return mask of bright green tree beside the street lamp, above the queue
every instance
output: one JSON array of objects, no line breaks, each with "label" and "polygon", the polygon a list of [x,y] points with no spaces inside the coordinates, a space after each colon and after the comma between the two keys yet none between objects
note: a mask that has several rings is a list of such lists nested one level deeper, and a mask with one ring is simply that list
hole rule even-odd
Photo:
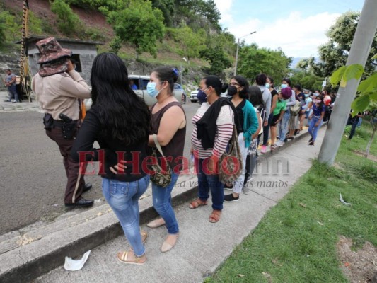
[{"label": "bright green tree beside the street lamp, above the queue", "polygon": [[279,81],[282,79],[291,63],[282,50],[258,48],[253,44],[240,47],[237,74],[253,81],[260,73],[268,74]]}]

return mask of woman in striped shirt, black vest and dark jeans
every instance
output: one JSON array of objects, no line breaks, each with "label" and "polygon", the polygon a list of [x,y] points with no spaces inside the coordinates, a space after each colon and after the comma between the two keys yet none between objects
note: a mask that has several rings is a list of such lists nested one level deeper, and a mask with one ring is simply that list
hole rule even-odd
[{"label": "woman in striped shirt, black vest and dark jeans", "polygon": [[[212,195],[211,223],[220,220],[224,203],[224,184],[219,178],[219,158],[226,151],[226,146],[233,134],[235,112],[233,104],[227,98],[221,98],[227,86],[217,76],[206,76],[199,84],[199,97],[203,94],[207,103],[203,103],[192,117],[194,126],[191,136],[192,154],[198,179],[198,198],[190,203],[190,209],[197,209],[208,204],[209,191]],[[236,120],[237,129],[240,128]]]}]

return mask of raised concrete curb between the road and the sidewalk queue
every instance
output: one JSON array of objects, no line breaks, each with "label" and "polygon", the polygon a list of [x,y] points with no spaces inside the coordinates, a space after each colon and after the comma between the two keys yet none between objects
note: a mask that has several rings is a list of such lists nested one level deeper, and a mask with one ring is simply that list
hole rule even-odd
[{"label": "raised concrete curb between the road and the sidewalk queue", "polygon": [[[308,132],[299,134],[292,141],[287,142],[284,148],[295,144],[296,141],[307,135]],[[263,155],[272,156],[281,151],[282,148],[273,152],[269,151]],[[176,207],[192,200],[196,194],[197,187],[189,187],[183,192],[179,192],[172,197],[173,206]],[[141,200],[139,205],[141,224],[158,216],[150,201]],[[40,275],[61,266],[66,256],[82,255],[86,251],[102,245],[105,241],[120,236],[123,233],[122,229],[116,216],[107,213],[110,212],[108,208],[108,204],[103,204],[100,207],[72,216],[59,224],[54,224],[54,227],[50,227],[51,233],[47,233],[41,238],[38,237],[38,233],[30,233],[30,243],[26,241],[18,248],[0,255],[0,282],[33,281]],[[75,223],[78,221],[79,224]],[[20,238],[20,235],[17,235],[17,237]]]}]

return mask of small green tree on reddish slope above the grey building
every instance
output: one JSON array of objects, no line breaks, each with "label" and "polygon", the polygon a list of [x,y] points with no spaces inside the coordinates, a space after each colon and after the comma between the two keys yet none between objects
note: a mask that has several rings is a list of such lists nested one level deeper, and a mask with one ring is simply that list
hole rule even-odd
[{"label": "small green tree on reddish slope above the grey building", "polygon": [[65,35],[72,35],[82,30],[83,24],[79,16],[64,0],[54,0],[51,11],[57,15],[57,28]]}]

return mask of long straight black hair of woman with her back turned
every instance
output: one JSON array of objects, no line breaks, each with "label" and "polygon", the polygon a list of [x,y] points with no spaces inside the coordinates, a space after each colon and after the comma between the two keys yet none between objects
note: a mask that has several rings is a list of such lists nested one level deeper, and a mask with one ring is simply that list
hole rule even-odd
[{"label": "long straight black hair of woman with her back turned", "polygon": [[98,108],[103,134],[125,145],[148,141],[151,112],[129,87],[126,65],[112,53],[95,57],[91,71],[91,97]]}]

